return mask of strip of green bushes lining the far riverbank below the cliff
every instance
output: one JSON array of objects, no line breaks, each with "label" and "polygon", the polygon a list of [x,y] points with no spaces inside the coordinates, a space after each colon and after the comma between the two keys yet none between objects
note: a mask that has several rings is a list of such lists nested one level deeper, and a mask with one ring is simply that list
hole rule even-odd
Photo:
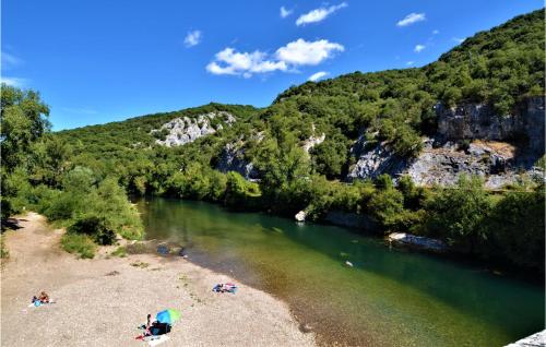
[{"label": "strip of green bushes lining the far riverbank below the cliff", "polygon": [[441,240],[454,255],[544,275],[542,182],[526,181],[490,191],[484,188],[483,179],[466,176],[443,188],[416,187],[408,177],[402,177],[395,186],[387,175],[352,184],[311,176],[264,186],[263,181],[246,181],[236,172],[226,175],[221,187],[203,184],[203,180],[206,177],[202,175],[179,179],[179,186],[168,190],[176,193],[167,195],[200,196],[235,211],[262,211],[288,218],[298,214],[308,222],[347,226],[377,236],[411,232]]}]

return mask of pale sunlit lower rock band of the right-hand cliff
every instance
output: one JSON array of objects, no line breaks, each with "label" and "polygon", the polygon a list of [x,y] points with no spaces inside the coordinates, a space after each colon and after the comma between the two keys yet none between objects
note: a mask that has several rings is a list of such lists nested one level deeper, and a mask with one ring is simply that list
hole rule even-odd
[{"label": "pale sunlit lower rock band of the right-hand cliff", "polygon": [[394,180],[408,175],[418,186],[453,186],[462,175],[479,176],[485,187],[499,189],[506,184],[518,182],[527,176],[544,179],[544,170],[534,167],[524,156],[517,157],[518,148],[500,141],[475,140],[467,148],[461,148],[455,142],[435,143],[432,139],[424,139],[424,148],[413,159],[404,159],[394,155],[387,144],[378,144],[369,149],[355,144],[352,152],[360,153],[356,164],[351,168],[346,180],[375,179],[379,175],[391,175]]}]

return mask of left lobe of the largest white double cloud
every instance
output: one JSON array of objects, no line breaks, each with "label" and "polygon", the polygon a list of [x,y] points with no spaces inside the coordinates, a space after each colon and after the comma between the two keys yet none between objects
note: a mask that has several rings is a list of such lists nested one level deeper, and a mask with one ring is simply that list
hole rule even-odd
[{"label": "left lobe of the largest white double cloud", "polygon": [[266,59],[266,55],[259,50],[251,53],[237,52],[227,47],[215,56],[215,60],[206,65],[206,71],[212,74],[242,75],[248,79],[252,73],[265,73],[275,70],[286,71],[284,61],[272,61]]}]

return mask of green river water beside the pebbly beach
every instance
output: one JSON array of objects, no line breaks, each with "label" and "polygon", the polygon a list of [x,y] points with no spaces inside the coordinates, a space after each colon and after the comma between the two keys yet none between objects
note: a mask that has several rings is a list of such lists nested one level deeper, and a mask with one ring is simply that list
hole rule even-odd
[{"label": "green river water beside the pebbly beach", "polygon": [[334,226],[181,200],[138,206],[147,238],[281,298],[323,345],[503,346],[544,328],[542,286]]}]

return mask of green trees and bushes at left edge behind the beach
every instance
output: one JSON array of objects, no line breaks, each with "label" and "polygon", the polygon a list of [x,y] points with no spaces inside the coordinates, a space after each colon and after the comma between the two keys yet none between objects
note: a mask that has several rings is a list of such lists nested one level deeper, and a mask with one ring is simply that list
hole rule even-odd
[{"label": "green trees and bushes at left edge behind the beach", "polygon": [[1,85],[2,226],[14,213],[39,211],[68,227],[62,244],[82,256],[92,256],[90,240],[141,238],[124,190],[116,179],[71,163],[71,146],[49,133],[48,112],[37,93]]}]

